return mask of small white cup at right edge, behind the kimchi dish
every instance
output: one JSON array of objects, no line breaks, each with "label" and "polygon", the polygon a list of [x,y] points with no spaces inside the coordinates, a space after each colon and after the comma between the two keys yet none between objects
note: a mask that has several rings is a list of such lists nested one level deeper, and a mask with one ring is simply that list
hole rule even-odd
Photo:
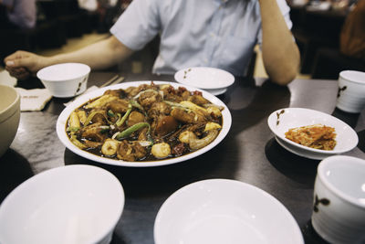
[{"label": "small white cup at right edge, behind the kimchi dish", "polygon": [[339,73],[336,107],[354,113],[362,111],[365,107],[365,72],[344,70]]}]

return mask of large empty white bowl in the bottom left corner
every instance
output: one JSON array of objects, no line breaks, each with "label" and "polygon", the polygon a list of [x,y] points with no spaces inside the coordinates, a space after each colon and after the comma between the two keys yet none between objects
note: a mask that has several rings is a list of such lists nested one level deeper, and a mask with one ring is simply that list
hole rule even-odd
[{"label": "large empty white bowl in the bottom left corner", "polygon": [[0,243],[110,243],[124,207],[120,181],[74,164],[35,175],[0,207]]}]

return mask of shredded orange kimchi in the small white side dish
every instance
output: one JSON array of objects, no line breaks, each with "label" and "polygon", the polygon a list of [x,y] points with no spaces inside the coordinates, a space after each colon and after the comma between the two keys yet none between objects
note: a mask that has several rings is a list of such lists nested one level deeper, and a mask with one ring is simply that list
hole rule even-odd
[{"label": "shredded orange kimchi in the small white side dish", "polygon": [[321,150],[333,150],[336,146],[335,128],[314,124],[289,129],[286,138],[301,145]]}]

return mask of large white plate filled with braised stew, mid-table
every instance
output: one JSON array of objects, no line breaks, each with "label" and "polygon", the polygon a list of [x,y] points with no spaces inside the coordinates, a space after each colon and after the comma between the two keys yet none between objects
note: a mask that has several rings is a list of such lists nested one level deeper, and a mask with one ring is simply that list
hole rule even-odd
[{"label": "large white plate filled with braised stew, mid-table", "polygon": [[80,96],[59,115],[57,136],[89,160],[148,167],[208,152],[224,139],[231,123],[224,102],[207,91],[144,80]]}]

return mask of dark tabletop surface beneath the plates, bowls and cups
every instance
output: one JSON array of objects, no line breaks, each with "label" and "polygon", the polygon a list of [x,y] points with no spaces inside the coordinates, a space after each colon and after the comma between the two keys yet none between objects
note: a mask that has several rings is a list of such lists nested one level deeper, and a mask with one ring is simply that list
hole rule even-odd
[{"label": "dark tabletop surface beneath the plates, bowls and cups", "polygon": [[[114,75],[91,73],[89,86]],[[125,81],[131,80],[173,78],[141,75],[128,76]],[[112,243],[153,243],[154,219],[173,192],[203,179],[235,179],[275,196],[297,220],[306,243],[324,243],[310,226],[319,160],[287,152],[276,143],[266,120],[272,111],[287,107],[327,112],[347,122],[359,135],[358,147],[346,154],[365,159],[365,111],[350,114],[335,109],[337,91],[336,80],[294,80],[287,87],[280,87],[264,79],[237,78],[218,96],[233,119],[224,141],[192,160],[148,168],[99,164],[69,151],[56,133],[58,114],[69,100],[53,98],[43,111],[21,113],[16,138],[0,158],[0,202],[27,178],[47,169],[65,164],[98,165],[116,175],[125,191],[125,206]]]}]

